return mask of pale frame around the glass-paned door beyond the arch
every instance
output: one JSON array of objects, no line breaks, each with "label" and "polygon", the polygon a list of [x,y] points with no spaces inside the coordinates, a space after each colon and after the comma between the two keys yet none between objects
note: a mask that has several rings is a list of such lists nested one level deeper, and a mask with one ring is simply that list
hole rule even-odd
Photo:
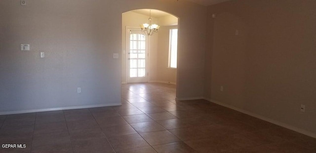
[{"label": "pale frame around the glass-paned door beyond the arch", "polygon": [[[128,44],[129,44],[129,37],[130,37],[130,30],[134,30],[134,31],[141,31],[140,30],[140,28],[139,27],[129,27],[129,26],[126,26],[125,27],[125,82],[126,83],[128,83],[128,74],[129,74],[129,66],[128,66],[128,58],[129,58],[129,46],[128,46]],[[146,50],[147,50],[147,55],[145,55],[146,56],[146,72],[147,72],[147,80],[146,80],[146,82],[149,82],[149,52],[150,52],[150,46],[149,46],[149,44],[150,44],[150,39],[149,39],[149,36],[148,35],[146,35],[146,39],[147,39],[147,43],[146,43]],[[146,74],[145,74],[146,75]]]}]

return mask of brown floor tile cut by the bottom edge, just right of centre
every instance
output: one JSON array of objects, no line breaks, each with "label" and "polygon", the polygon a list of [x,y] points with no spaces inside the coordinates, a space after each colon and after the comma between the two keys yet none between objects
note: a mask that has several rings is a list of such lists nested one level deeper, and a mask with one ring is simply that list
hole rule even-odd
[{"label": "brown floor tile cut by the bottom edge, just right of centre", "polygon": [[153,146],[158,153],[197,153],[194,149],[183,142],[175,142]]}]

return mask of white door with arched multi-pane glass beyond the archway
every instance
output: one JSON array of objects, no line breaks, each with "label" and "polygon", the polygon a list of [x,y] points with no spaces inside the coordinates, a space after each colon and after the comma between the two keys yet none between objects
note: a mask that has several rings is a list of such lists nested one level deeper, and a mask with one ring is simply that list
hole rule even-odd
[{"label": "white door with arched multi-pane glass beyond the archway", "polygon": [[130,30],[127,40],[127,82],[148,82],[147,36],[142,31]]}]

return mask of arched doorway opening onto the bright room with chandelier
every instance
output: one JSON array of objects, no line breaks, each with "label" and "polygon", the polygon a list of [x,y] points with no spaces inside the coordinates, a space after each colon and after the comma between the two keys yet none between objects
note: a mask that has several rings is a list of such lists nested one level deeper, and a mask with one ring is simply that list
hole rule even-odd
[{"label": "arched doorway opening onto the bright room with chandelier", "polygon": [[[160,28],[157,33],[147,36],[140,31],[139,25],[148,23],[150,11],[152,24]],[[177,29],[178,18],[160,10],[138,9],[122,13],[122,84],[176,84],[177,41],[174,39]],[[176,52],[170,49],[176,49]]]}]

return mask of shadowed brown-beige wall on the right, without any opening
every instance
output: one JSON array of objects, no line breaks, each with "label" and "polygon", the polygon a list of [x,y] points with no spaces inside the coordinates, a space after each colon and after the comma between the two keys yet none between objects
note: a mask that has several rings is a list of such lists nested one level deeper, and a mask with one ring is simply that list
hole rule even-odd
[{"label": "shadowed brown-beige wall on the right, without any opening", "polygon": [[315,0],[209,6],[205,97],[316,136],[315,8]]}]

